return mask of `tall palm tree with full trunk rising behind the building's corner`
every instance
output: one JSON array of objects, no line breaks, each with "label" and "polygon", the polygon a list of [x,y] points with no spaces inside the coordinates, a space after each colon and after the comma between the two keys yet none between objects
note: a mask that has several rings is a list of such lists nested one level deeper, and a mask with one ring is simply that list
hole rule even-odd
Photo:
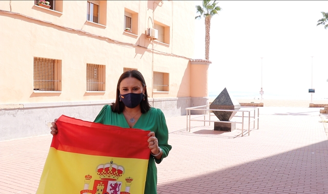
[{"label": "tall palm tree with full trunk rising behind the building's corner", "polygon": [[218,11],[221,11],[219,6],[216,6],[216,0],[211,3],[210,0],[203,0],[202,7],[196,6],[196,13],[199,13],[195,19],[205,18],[205,59],[210,59],[210,28],[211,28],[211,18],[213,15],[218,14]]}]

